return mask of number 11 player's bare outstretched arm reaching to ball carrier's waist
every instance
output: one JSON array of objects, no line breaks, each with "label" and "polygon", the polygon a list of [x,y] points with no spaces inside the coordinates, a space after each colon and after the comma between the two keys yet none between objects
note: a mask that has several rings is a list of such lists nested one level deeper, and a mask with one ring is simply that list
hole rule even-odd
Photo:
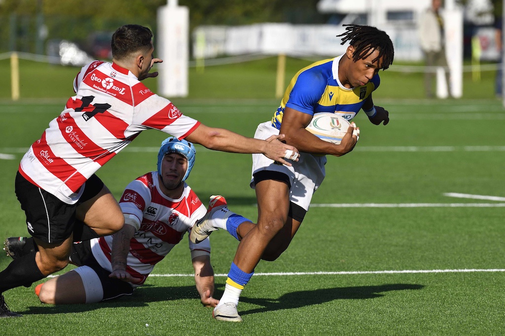
[{"label": "number 11 player's bare outstretched arm reaching to ball carrier's waist", "polygon": [[270,137],[266,141],[246,138],[228,129],[209,127],[204,124],[200,124],[186,137],[187,141],[212,150],[230,153],[263,153],[272,160],[291,166],[284,159],[297,161],[298,150],[281,142],[282,139],[284,139],[283,135]]}]

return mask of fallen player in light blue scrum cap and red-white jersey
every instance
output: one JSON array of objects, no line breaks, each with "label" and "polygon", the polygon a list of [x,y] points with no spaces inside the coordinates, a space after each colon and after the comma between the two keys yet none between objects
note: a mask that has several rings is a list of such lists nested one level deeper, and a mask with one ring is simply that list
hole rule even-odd
[{"label": "fallen player in light blue scrum cap and red-white jersey", "polygon": [[[35,288],[43,303],[95,303],[131,295],[141,286],[156,263],[179,243],[186,231],[204,217],[206,209],[185,183],[195,149],[185,140],[166,139],[158,154],[158,171],[130,182],[119,205],[124,227],[114,235],[72,245],[71,262],[77,268]],[[33,238],[24,250],[34,248]],[[215,307],[214,271],[209,239],[196,245],[189,241],[196,289],[205,306]],[[13,252],[13,251],[11,251]],[[24,251],[15,251],[13,257]]]}]

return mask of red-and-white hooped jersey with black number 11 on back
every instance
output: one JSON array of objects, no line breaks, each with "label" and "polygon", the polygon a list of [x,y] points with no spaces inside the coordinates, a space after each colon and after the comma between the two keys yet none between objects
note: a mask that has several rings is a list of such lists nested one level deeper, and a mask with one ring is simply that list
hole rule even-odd
[{"label": "red-and-white hooped jersey with black number 11 on back", "polygon": [[74,80],[76,95],[21,159],[19,172],[67,204],[81,186],[144,129],[183,139],[198,121],[146,88],[129,70],[94,61]]}]

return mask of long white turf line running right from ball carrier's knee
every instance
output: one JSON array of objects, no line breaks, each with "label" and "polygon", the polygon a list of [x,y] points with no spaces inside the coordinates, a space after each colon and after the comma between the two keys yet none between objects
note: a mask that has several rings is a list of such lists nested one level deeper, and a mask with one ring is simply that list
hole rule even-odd
[{"label": "long white turf line running right from ball carrier's knee", "polygon": [[501,208],[505,203],[333,203],[311,208]]}]

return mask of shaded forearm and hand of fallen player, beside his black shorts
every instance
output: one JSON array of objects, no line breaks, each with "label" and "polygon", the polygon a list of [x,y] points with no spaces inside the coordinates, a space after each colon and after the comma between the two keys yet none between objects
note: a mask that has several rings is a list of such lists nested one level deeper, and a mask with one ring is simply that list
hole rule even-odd
[{"label": "shaded forearm and hand of fallen player, beside his black shorts", "polygon": [[116,278],[131,283],[141,281],[140,279],[133,278],[126,272],[126,258],[130,250],[130,239],[133,238],[134,234],[135,227],[126,223],[121,230],[114,234],[111,251],[112,273],[109,275],[109,278]]}]

